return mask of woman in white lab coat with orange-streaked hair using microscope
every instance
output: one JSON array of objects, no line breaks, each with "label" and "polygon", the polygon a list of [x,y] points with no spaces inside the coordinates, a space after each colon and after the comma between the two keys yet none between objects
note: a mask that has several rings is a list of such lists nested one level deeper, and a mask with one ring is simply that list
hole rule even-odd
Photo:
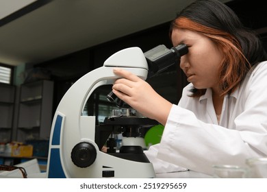
[{"label": "woman in white lab coat with orange-streaked hair using microscope", "polygon": [[180,67],[190,83],[178,105],[114,69],[121,77],[114,94],[164,125],[161,143],[147,152],[155,171],[171,165],[167,171],[212,174],[215,164],[244,166],[246,158],[267,156],[267,57],[257,36],[227,5],[199,0],[173,21],[170,38],[188,46]]}]

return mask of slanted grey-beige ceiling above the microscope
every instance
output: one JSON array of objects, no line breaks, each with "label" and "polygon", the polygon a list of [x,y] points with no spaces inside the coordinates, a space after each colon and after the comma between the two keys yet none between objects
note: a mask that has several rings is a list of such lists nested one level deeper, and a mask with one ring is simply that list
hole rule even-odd
[{"label": "slanted grey-beige ceiling above the microscope", "polygon": [[[14,9],[0,15],[0,21],[13,16],[0,25],[0,63],[36,64],[99,45],[171,21],[192,1],[54,0],[34,10],[29,9],[32,2],[10,5]],[[0,12],[8,2],[0,1]]]}]

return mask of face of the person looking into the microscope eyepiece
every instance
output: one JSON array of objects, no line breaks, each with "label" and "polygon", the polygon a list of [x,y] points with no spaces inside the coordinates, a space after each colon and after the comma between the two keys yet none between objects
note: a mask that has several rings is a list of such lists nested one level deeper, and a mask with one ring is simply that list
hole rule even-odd
[{"label": "face of the person looking into the microscope eyepiece", "polygon": [[180,67],[188,82],[195,88],[212,88],[218,91],[218,67],[223,60],[223,51],[216,44],[198,32],[173,29],[173,46],[188,45],[188,54],[181,57]]}]

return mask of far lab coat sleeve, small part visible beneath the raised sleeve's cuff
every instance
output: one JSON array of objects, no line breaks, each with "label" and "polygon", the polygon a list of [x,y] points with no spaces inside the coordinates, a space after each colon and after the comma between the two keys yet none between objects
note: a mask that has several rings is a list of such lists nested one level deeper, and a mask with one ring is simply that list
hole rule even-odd
[{"label": "far lab coat sleeve, small part visible beneath the raised sleeve's cuff", "polygon": [[160,160],[157,158],[157,149],[160,147],[160,144],[152,145],[149,147],[149,150],[145,150],[144,154],[146,154],[149,161],[152,163],[155,173],[170,173],[177,171],[188,171],[188,169],[184,167],[180,167],[173,163],[168,163],[164,160]]}]

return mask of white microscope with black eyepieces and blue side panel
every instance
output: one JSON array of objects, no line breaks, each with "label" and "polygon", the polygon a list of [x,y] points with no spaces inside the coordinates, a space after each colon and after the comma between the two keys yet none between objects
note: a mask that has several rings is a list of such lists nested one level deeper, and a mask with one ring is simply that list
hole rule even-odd
[{"label": "white microscope with black eyepieces and blue side panel", "polygon": [[[167,49],[159,45],[145,53],[130,47],[114,53],[103,67],[81,77],[60,101],[53,117],[49,141],[47,178],[155,178],[153,165],[138,143],[140,128],[157,125],[157,121],[142,117],[116,95],[107,99],[120,110],[96,125],[96,117],[83,116],[86,101],[99,86],[113,84],[118,76],[114,67],[121,67],[146,80],[188,53],[186,45]],[[125,107],[127,106],[127,107]],[[129,139],[116,150],[113,134],[122,133]],[[107,143],[107,152],[102,147]]]}]

